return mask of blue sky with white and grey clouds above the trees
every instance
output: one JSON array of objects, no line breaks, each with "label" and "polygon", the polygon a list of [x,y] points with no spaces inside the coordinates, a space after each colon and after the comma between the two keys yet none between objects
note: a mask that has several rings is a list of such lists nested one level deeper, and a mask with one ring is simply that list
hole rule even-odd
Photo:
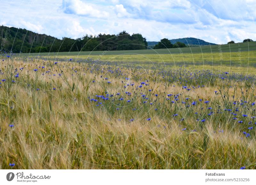
[{"label": "blue sky with white and grey clouds above the trees", "polygon": [[0,25],[61,39],[140,33],[147,41],[256,40],[256,0],[0,0]]}]

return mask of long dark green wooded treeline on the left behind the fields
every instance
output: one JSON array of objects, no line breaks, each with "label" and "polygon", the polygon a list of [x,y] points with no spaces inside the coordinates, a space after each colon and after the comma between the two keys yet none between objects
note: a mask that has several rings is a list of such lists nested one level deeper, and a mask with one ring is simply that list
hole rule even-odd
[{"label": "long dark green wooded treeline on the left behind the fields", "polygon": [[57,39],[45,34],[37,34],[26,29],[0,26],[1,53],[38,53],[69,51],[104,51],[147,49],[146,38],[141,34],[123,31],[115,34],[85,35],[82,38]]}]

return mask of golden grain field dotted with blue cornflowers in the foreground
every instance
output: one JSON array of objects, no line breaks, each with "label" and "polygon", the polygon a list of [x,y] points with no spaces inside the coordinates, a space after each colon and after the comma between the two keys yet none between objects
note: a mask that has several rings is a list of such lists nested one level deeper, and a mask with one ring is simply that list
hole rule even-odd
[{"label": "golden grain field dotted with blue cornflowers in the foreground", "polygon": [[0,61],[1,169],[256,168],[254,74]]}]

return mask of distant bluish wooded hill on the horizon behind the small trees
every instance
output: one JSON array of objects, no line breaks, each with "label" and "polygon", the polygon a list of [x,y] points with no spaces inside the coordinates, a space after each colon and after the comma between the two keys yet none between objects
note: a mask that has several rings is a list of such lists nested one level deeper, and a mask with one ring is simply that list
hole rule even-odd
[{"label": "distant bluish wooded hill on the horizon behind the small trees", "polygon": [[[186,45],[191,46],[208,46],[208,45],[216,45],[214,43],[210,43],[210,42],[206,42],[202,39],[196,39],[193,37],[186,37],[186,38],[182,38],[182,39],[171,39],[170,40],[172,44],[176,42],[181,42],[184,43]],[[148,46],[153,48],[158,42],[155,41],[148,41]]]}]

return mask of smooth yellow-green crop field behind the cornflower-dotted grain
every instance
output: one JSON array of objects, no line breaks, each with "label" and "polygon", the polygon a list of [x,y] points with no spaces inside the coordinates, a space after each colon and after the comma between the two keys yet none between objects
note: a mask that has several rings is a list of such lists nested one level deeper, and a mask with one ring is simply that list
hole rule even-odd
[{"label": "smooth yellow-green crop field behind the cornflower-dotted grain", "polygon": [[[38,56],[39,54],[39,56]],[[44,60],[61,60],[88,62],[99,61],[102,65],[133,64],[140,67],[188,70],[233,71],[253,74],[256,68],[256,42],[213,45],[201,47],[185,47],[171,49],[124,50],[124,51],[92,51],[92,52],[60,52],[60,53],[21,53],[21,60],[29,57]]]}]

